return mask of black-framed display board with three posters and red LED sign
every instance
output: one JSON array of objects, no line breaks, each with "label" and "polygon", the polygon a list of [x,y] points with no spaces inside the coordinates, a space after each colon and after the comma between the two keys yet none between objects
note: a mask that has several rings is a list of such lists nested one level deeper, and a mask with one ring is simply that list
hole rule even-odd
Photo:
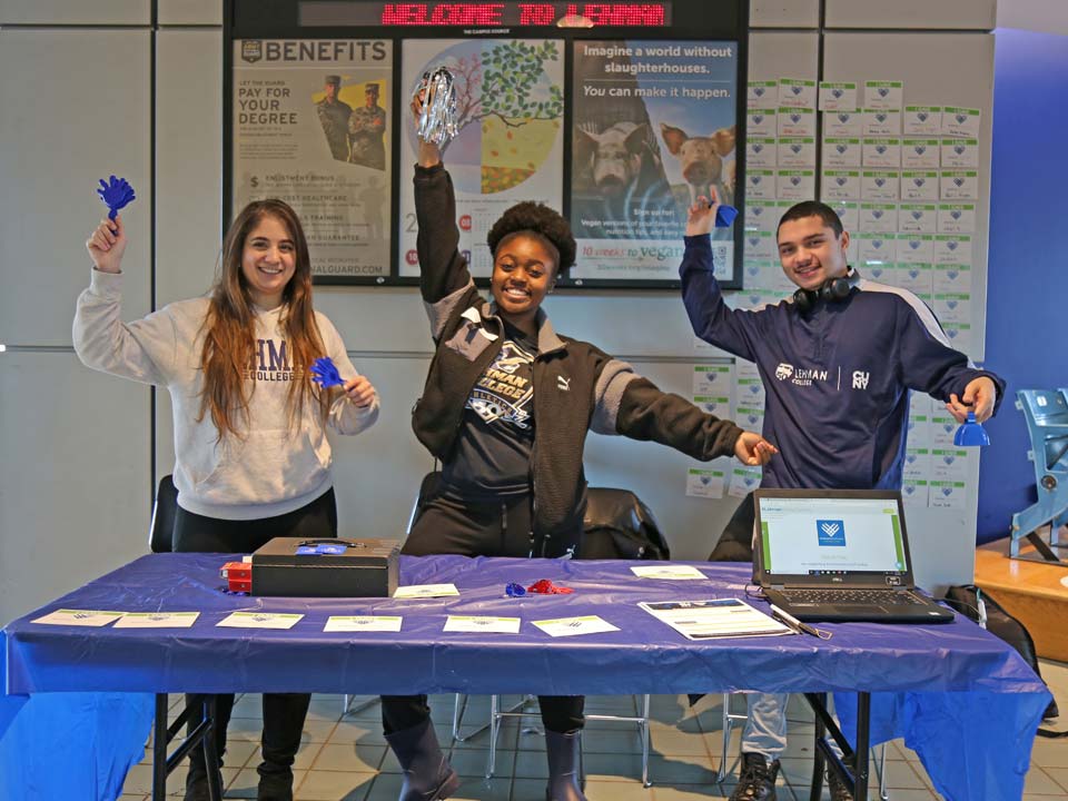
[{"label": "black-framed display board with three posters and red LED sign", "polygon": [[[560,286],[676,288],[689,207],[711,190],[744,206],[748,20],[748,0],[226,0],[224,228],[281,198],[316,283],[415,284],[408,102],[445,66],[459,130],[443,160],[476,280],[494,220],[535,200],[575,234]],[[725,288],[742,244],[740,224],[713,233]]]}]

